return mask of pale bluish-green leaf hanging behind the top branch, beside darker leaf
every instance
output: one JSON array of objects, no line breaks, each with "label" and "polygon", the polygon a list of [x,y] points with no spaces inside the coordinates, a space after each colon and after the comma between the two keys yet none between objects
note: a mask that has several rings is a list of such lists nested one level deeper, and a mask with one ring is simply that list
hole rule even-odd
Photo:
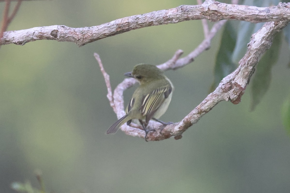
[{"label": "pale bluish-green leaf hanging behind the top branch, beside darker leaf", "polygon": [[[257,6],[257,7],[269,7],[278,5],[279,0],[245,0],[243,5]],[[232,61],[238,64],[242,57],[247,52],[247,44],[250,42],[252,34],[257,32],[264,23],[250,23],[246,21],[240,21],[238,27],[237,43],[233,51]]]}]

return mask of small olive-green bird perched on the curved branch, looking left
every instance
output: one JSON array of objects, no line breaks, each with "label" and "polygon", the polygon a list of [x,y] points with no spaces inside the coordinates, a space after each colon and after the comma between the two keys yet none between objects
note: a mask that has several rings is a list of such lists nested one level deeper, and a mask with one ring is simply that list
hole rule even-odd
[{"label": "small olive-green bird perched on the curved branch, looking left", "polygon": [[[107,131],[107,134],[114,134],[127,122],[130,125],[132,120],[139,120],[146,135],[146,126],[150,119],[162,123],[164,126],[172,124],[158,120],[168,108],[174,89],[171,81],[163,74],[163,71],[154,65],[138,64],[133,68],[133,72],[124,74],[139,81],[140,85],[133,93],[127,108],[126,115],[117,120]],[[134,121],[135,122],[135,121]],[[151,130],[150,130],[151,131]]]}]

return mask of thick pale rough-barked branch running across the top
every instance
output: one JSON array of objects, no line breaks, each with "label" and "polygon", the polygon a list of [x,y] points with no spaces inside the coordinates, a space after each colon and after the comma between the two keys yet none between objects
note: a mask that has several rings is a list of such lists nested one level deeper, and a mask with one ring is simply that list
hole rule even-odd
[{"label": "thick pale rough-barked branch running across the top", "polygon": [[77,45],[83,46],[133,29],[197,19],[208,19],[210,21],[233,19],[253,23],[284,21],[290,19],[289,8],[290,3],[259,8],[206,0],[202,5],[181,5],[177,8],[125,17],[93,27],[72,28],[64,25],[52,25],[7,31],[4,32],[0,44],[24,45],[35,40],[57,40],[60,42],[75,42]]}]

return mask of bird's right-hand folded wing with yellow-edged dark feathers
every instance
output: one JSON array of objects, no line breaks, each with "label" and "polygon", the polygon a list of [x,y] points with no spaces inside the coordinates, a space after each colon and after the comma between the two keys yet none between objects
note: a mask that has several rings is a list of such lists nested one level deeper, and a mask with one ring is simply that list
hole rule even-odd
[{"label": "bird's right-hand folded wing with yellow-edged dark feathers", "polygon": [[143,96],[141,103],[141,113],[146,116],[146,123],[149,122],[157,109],[162,105],[165,99],[172,92],[171,85],[166,85],[164,87],[153,90],[150,94]]}]

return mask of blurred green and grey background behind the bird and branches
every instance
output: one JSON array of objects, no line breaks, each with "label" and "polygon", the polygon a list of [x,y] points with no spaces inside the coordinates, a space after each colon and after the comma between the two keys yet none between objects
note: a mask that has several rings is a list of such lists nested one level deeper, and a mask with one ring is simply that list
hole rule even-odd
[{"label": "blurred green and grey background behind the bird and branches", "polygon": [[[3,13],[4,2],[0,2]],[[8,30],[48,25],[89,27],[184,0],[23,1]],[[210,23],[212,25],[212,23]],[[221,32],[211,49],[167,71],[175,92],[162,120],[178,122],[208,94]],[[83,47],[39,40],[0,49],[0,192],[43,173],[48,192],[290,192],[290,139],[281,121],[289,98],[289,48],[283,42],[266,96],[250,112],[219,103],[184,134],[159,142],[105,135],[117,117],[93,56],[99,53],[115,88],[135,64],[161,64],[203,40],[201,21],[146,27]],[[251,83],[250,83],[251,85]],[[125,103],[134,88],[125,92]]]}]

